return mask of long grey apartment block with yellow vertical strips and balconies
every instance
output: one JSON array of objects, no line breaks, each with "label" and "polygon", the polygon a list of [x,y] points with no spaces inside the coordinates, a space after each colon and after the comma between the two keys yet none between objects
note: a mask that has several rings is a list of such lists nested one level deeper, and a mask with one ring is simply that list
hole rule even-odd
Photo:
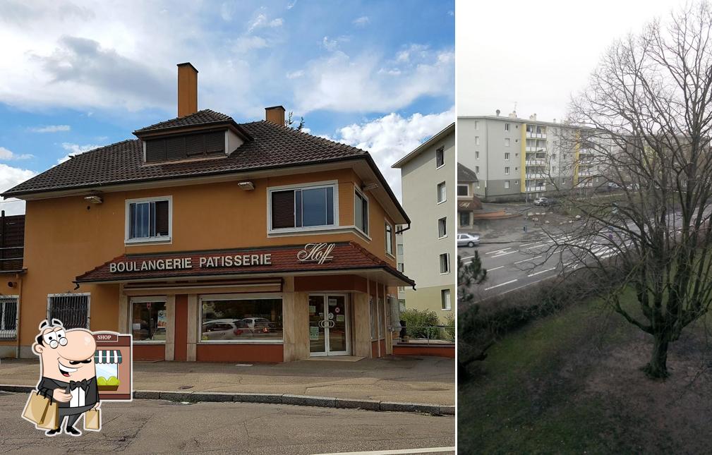
[{"label": "long grey apartment block with yellow vertical strips and balconies", "polygon": [[[508,117],[458,117],[458,160],[477,174],[474,192],[486,202],[535,199],[555,190],[605,183],[592,164],[582,129]],[[585,134],[585,132],[583,133]]]}]

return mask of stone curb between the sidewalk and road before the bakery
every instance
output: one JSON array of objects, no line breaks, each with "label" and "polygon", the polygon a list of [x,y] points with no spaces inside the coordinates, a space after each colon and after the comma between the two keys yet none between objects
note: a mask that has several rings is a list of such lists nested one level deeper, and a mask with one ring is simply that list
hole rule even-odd
[{"label": "stone curb between the sidewalk and road before the bakery", "polygon": [[[0,384],[2,392],[32,392],[31,385]],[[166,390],[135,390],[135,399],[167,399],[173,402],[236,402],[292,404],[294,406],[364,409],[377,412],[417,412],[420,414],[455,415],[454,406],[426,403],[382,402],[373,399],[313,397],[310,395],[246,393],[246,392],[169,392]]]}]

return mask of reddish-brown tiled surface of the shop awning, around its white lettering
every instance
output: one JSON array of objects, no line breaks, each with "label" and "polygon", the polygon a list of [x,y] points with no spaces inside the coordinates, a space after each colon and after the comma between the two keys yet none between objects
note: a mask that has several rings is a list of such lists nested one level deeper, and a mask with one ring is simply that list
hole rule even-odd
[{"label": "reddish-brown tiled surface of the shop awning, around its white lettering", "polygon": [[[340,242],[335,244],[331,252],[333,259],[323,264],[317,262],[300,262],[297,260],[297,253],[304,248],[303,245],[257,247],[249,249],[234,250],[211,250],[211,251],[184,251],[180,253],[146,253],[146,254],[123,254],[111,261],[103,263],[91,271],[76,277],[76,283],[93,283],[106,281],[135,281],[146,278],[199,278],[199,277],[219,277],[252,275],[258,273],[287,273],[287,272],[329,272],[364,269],[382,269],[392,276],[399,278],[410,286],[415,286],[415,282],[405,276],[387,262],[369,253],[366,249],[355,242]],[[244,254],[271,254],[271,265],[224,267],[224,268],[199,268],[200,257],[211,256],[234,256]],[[142,261],[150,259],[171,259],[171,258],[192,258],[192,269],[181,270],[153,270],[111,273],[112,263],[124,261]]]}]

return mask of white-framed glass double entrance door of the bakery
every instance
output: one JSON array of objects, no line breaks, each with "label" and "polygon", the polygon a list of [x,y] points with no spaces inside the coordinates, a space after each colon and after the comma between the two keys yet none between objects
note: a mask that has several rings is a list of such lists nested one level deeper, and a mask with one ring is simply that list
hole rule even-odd
[{"label": "white-framed glass double entrance door of the bakery", "polygon": [[312,356],[349,354],[346,296],[309,296],[309,345]]}]

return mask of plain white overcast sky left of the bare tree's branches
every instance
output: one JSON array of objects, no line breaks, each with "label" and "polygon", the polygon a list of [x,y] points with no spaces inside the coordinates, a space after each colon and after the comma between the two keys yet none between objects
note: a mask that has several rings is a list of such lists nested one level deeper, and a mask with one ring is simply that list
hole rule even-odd
[{"label": "plain white overcast sky left of the bare tree's branches", "polygon": [[681,1],[466,1],[456,9],[458,115],[562,119],[614,39]]}]

